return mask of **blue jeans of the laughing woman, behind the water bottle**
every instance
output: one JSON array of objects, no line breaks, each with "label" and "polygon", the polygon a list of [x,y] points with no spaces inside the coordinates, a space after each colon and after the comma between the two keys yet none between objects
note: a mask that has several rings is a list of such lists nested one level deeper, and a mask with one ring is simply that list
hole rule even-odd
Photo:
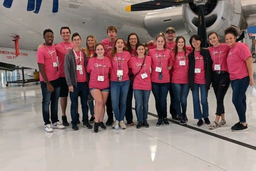
[{"label": "blue jeans of the laughing woman, behind the water bottle", "polygon": [[[126,98],[130,86],[130,80],[126,81],[110,81],[110,92],[112,108],[115,120],[123,121],[126,110]],[[120,106],[120,107],[119,107]]]}]

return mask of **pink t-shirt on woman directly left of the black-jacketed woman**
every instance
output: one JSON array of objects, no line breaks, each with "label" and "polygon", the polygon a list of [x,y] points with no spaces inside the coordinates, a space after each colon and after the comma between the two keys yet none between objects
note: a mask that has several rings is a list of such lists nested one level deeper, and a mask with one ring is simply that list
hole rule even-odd
[{"label": "pink t-shirt on woman directly left of the black-jacketed woman", "polygon": [[172,83],[177,84],[188,84],[188,54],[190,51],[178,52],[175,56],[172,52],[171,56],[171,66],[173,66],[173,77]]}]

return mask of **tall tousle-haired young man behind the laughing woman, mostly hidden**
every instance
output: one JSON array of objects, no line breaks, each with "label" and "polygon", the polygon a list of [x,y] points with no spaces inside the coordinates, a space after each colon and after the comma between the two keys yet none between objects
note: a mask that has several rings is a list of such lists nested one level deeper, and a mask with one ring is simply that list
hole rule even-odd
[{"label": "tall tousle-haired young man behind the laughing woman, mostly hidden", "polygon": [[[115,39],[117,36],[117,29],[115,26],[110,25],[107,28],[107,34],[109,38],[103,39],[101,41],[101,43],[104,45],[104,56],[108,56],[109,52],[111,52],[114,43],[115,43]],[[111,92],[109,92],[109,97],[108,100],[106,102],[106,107],[107,107],[107,114],[108,114],[108,120],[106,122],[106,125],[112,125],[112,123],[114,122],[113,120],[113,109],[112,109],[112,103],[111,103]]]}]

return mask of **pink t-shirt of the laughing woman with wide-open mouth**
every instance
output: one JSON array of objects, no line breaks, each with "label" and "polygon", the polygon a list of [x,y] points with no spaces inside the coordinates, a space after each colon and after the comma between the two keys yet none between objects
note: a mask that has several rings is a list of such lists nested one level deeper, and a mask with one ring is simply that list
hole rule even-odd
[{"label": "pink t-shirt of the laughing woman with wide-open mouth", "polygon": [[129,79],[128,61],[130,60],[130,58],[131,58],[131,54],[125,50],[123,51],[123,53],[116,53],[113,56],[113,58],[111,59],[111,62],[112,62],[112,68],[110,73],[111,81],[118,81],[117,70],[123,70],[122,81],[126,81]]}]

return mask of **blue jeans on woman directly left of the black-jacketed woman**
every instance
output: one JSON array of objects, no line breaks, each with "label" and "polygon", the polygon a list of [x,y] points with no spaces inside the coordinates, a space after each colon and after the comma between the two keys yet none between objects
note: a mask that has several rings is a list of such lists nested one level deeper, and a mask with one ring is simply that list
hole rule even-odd
[{"label": "blue jeans on woman directly left of the black-jacketed woman", "polygon": [[180,104],[182,108],[182,113],[186,114],[186,106],[187,106],[187,96],[189,93],[188,84],[177,84],[172,83],[174,99],[175,99],[175,110],[179,117],[181,115]]}]

